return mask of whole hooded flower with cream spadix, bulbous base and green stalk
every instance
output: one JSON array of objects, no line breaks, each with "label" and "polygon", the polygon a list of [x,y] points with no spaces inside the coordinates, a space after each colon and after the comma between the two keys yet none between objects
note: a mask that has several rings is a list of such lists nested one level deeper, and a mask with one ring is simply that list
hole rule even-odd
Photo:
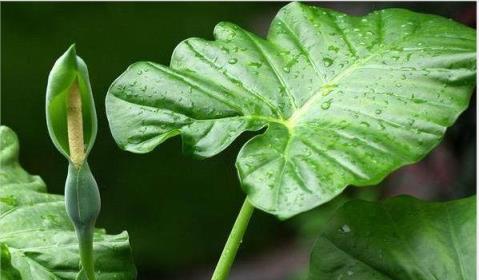
[{"label": "whole hooded flower with cream spadix, bulbous base and green stalk", "polygon": [[86,64],[71,46],[48,79],[47,126],[56,148],[69,161],[65,207],[78,238],[77,279],[94,280],[94,226],[101,208],[98,186],[87,163],[96,136],[96,112]]}]

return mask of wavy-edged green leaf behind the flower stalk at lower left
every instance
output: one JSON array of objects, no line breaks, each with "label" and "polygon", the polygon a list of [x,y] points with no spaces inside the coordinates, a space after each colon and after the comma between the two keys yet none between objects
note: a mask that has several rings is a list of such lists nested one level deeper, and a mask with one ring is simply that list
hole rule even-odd
[{"label": "wavy-edged green leaf behind the flower stalk at lower left", "polygon": [[[78,241],[63,196],[46,193],[18,163],[15,133],[0,127],[0,255],[2,279],[75,279]],[[134,279],[128,234],[95,233],[97,279]]]}]

